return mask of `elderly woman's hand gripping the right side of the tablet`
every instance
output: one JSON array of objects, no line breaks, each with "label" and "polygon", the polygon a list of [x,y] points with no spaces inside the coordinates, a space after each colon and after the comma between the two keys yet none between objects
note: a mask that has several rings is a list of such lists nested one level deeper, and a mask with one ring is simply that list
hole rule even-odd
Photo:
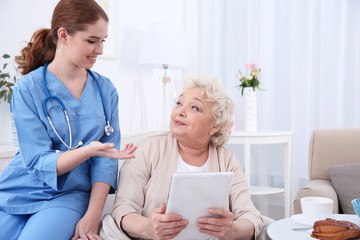
[{"label": "elderly woman's hand gripping the right side of the tablet", "polygon": [[196,222],[199,232],[210,234],[218,239],[227,239],[233,225],[233,214],[222,208],[210,208],[210,214],[219,215],[216,217],[201,217]]}]

